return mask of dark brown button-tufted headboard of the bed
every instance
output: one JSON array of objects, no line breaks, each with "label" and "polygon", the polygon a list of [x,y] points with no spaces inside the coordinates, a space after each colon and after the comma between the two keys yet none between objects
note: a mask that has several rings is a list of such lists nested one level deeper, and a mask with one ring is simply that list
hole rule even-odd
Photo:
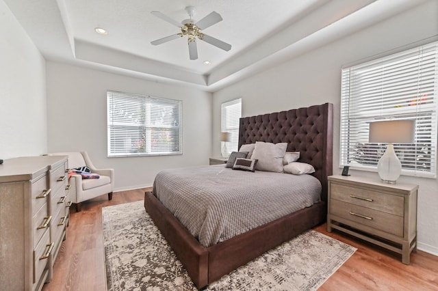
[{"label": "dark brown button-tufted headboard of the bed", "polygon": [[327,201],[327,176],[333,172],[331,103],[240,118],[239,148],[256,141],[287,143],[288,152],[299,151],[298,162],[313,165],[313,176],[322,184],[321,199]]}]

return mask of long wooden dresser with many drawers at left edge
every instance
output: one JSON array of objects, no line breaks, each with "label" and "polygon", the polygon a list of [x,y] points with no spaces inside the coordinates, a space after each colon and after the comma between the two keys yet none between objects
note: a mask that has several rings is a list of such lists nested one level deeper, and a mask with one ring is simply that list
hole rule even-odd
[{"label": "long wooden dresser with many drawers at left edge", "polygon": [[41,290],[68,223],[66,156],[0,165],[0,290]]}]

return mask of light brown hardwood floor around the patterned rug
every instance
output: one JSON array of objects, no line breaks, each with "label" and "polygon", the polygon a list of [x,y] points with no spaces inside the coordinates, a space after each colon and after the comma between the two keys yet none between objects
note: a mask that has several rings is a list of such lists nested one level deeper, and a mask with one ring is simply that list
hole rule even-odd
[{"label": "light brown hardwood floor around the patterned rug", "polygon": [[[105,255],[102,235],[102,207],[144,199],[138,189],[114,193],[112,201],[102,195],[83,202],[82,211],[70,209],[67,239],[54,266],[53,280],[44,291],[106,290]],[[320,290],[438,290],[438,257],[424,251],[411,255],[411,264],[400,262],[399,255],[352,238],[326,231],[326,224],[315,230],[342,240],[357,251],[320,288]]]}]

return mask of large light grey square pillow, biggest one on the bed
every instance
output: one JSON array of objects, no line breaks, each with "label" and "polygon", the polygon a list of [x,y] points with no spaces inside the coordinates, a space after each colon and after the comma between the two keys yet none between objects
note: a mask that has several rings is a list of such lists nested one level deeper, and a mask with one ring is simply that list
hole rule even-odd
[{"label": "large light grey square pillow, biggest one on the bed", "polygon": [[264,143],[256,141],[251,158],[259,160],[255,169],[259,171],[283,171],[283,158],[287,143]]}]

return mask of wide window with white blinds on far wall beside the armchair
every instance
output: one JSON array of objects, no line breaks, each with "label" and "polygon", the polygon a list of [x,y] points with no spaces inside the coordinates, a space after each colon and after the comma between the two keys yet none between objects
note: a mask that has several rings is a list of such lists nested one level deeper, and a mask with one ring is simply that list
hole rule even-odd
[{"label": "wide window with white blinds on far wall beside the armchair", "polygon": [[182,101],[107,92],[108,156],[183,153]]}]

